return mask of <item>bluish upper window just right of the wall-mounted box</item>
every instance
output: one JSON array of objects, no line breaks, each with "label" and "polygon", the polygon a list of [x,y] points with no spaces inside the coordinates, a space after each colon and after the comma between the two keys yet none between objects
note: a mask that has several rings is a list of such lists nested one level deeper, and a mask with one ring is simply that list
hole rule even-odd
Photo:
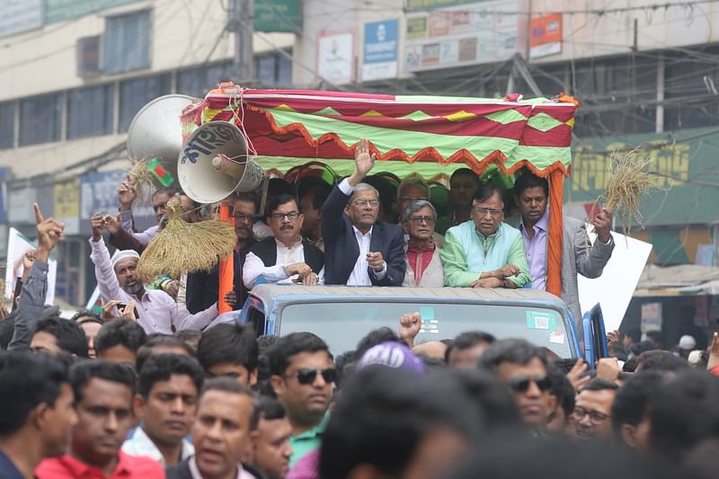
[{"label": "bluish upper window just right of the wall-mounted box", "polygon": [[106,75],[150,67],[150,11],[108,17],[102,54]]}]

